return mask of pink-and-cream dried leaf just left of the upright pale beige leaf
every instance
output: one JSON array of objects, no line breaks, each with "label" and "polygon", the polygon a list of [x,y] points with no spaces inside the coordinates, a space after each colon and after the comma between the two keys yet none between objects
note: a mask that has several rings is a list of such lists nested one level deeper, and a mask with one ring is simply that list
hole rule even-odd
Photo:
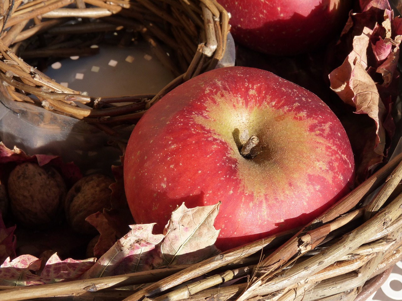
[{"label": "pink-and-cream dried leaf just left of the upright pale beige leaf", "polygon": [[152,234],[154,224],[131,225],[131,231],[119,239],[89,270],[89,277],[134,273],[154,268],[155,246],[163,234]]}]

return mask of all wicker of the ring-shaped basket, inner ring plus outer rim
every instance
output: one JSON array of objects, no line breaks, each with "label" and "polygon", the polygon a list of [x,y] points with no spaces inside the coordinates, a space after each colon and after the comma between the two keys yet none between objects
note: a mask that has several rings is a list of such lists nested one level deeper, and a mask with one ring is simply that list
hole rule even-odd
[{"label": "all wicker of the ring-shaped basket, inner ring plus outer rim", "polygon": [[[116,127],[135,122],[173,87],[215,67],[228,33],[228,15],[213,0],[10,0],[0,5],[0,76],[8,94],[16,101],[68,114],[111,134],[118,134]],[[83,21],[64,25],[66,18],[72,17]],[[33,25],[26,29],[29,22]],[[113,101],[123,99],[82,95],[51,81],[19,58],[24,53],[31,57],[35,51],[37,55],[71,55],[66,48],[43,52],[38,41],[54,43],[55,33],[68,36],[88,26],[90,31],[132,28],[151,43],[176,79],[152,97],[127,97],[134,103],[117,107]],[[161,47],[176,52],[177,65]],[[90,108],[79,108],[74,102]],[[192,265],[36,287],[1,287],[0,300],[364,300],[402,258],[401,162],[402,155],[395,157],[302,229]],[[119,289],[122,287],[125,289]]]}]

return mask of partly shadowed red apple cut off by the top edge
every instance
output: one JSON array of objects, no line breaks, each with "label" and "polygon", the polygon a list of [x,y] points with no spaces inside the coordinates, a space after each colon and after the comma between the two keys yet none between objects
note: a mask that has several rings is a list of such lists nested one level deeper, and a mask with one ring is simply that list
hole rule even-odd
[{"label": "partly shadowed red apple cut off by the top edge", "polygon": [[234,40],[272,55],[297,55],[340,34],[350,0],[219,0]]}]

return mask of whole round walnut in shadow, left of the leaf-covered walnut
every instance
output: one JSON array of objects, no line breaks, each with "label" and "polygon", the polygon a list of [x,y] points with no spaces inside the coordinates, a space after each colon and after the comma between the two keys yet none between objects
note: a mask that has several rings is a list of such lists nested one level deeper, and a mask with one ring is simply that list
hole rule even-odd
[{"label": "whole round walnut in shadow, left of the leaf-covered walnut", "polygon": [[29,162],[11,171],[7,189],[12,213],[27,226],[57,221],[67,192],[62,176],[53,167]]}]

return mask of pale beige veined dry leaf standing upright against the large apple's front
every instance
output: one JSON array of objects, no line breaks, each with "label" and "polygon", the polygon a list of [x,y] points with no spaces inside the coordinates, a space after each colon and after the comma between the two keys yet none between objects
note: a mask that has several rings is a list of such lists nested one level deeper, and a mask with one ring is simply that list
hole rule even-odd
[{"label": "pale beige veined dry leaf standing upright against the large apple's front", "polygon": [[167,264],[195,263],[219,252],[214,246],[219,230],[213,226],[219,204],[188,209],[183,203],[174,210],[161,244]]}]

